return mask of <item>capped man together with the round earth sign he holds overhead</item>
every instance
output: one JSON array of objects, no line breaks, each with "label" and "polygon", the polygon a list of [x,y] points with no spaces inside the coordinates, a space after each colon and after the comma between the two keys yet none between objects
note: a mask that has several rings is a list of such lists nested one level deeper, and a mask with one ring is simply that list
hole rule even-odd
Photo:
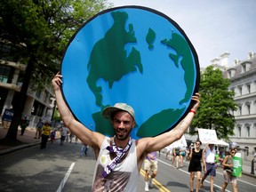
[{"label": "capped man together with the round earth sign he holds overhead", "polygon": [[161,12],[124,6],[84,23],[52,85],[64,124],[96,154],[92,191],[136,191],[145,157],[196,115],[199,75],[193,45]]}]

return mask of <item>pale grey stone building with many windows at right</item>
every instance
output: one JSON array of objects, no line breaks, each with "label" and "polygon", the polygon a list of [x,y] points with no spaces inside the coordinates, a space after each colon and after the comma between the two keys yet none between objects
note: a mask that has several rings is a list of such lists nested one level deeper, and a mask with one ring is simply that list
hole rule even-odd
[{"label": "pale grey stone building with many windows at right", "polygon": [[230,79],[229,89],[235,92],[234,100],[238,109],[232,111],[236,119],[234,136],[229,139],[236,142],[243,157],[252,160],[256,151],[256,54],[249,52],[245,60],[228,63],[228,52],[220,59],[212,60],[212,66],[220,68],[224,77]]}]

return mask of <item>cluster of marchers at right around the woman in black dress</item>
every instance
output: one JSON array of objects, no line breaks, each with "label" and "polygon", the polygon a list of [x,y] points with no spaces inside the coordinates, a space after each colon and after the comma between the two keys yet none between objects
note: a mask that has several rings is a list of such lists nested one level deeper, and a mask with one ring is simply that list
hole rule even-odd
[{"label": "cluster of marchers at right around the woman in black dress", "polygon": [[[172,166],[179,169],[179,164],[183,164],[182,156],[180,155],[181,151],[184,151],[181,148],[169,148],[169,151],[166,152],[166,159],[172,160]],[[226,154],[223,151],[223,148],[220,148],[220,152],[215,150],[215,146],[212,143],[208,143],[202,148],[202,142],[196,140],[195,144],[191,143],[189,148],[185,149],[185,159],[189,163],[188,172],[190,173],[189,188],[190,191],[194,191],[194,180],[196,175],[196,192],[199,191],[199,188],[204,188],[204,180],[207,176],[210,176],[210,192],[213,192],[214,187],[214,177],[216,176],[217,164],[223,168],[223,180],[222,191],[228,186],[230,182],[233,188],[233,191],[237,191],[236,186],[236,176],[232,175],[233,172],[233,156],[236,155],[236,146],[230,147],[229,151],[226,151]],[[172,155],[172,158],[169,156]],[[174,164],[176,161],[176,165]]]}]

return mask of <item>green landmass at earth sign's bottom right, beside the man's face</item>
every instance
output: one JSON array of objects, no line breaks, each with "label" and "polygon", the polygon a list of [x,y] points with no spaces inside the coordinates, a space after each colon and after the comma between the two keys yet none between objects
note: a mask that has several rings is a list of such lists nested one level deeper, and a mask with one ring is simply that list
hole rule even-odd
[{"label": "green landmass at earth sign's bottom right, beside the man's face", "polygon": [[[141,124],[137,132],[138,137],[154,137],[166,129],[170,128],[171,124],[175,124],[181,114],[184,113],[186,108],[181,109],[164,109],[161,112],[148,118],[146,122]],[[156,129],[157,127],[157,129]]]}]

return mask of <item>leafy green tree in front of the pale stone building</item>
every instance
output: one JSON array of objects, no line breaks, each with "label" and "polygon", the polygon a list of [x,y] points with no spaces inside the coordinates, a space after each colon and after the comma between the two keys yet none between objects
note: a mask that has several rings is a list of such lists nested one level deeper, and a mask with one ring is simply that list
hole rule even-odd
[{"label": "leafy green tree in front of the pale stone building", "polygon": [[205,69],[199,86],[200,108],[191,127],[215,130],[219,139],[228,140],[229,135],[234,135],[235,117],[232,112],[237,105],[234,101],[235,93],[228,91],[229,84],[230,81],[224,78],[219,68],[209,66]]}]

